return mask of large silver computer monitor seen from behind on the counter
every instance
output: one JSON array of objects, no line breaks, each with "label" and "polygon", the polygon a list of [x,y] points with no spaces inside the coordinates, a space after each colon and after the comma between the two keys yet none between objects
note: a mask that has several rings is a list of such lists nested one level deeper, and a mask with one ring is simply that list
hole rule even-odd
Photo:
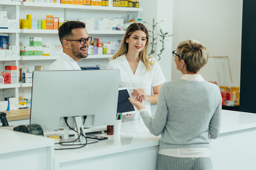
[{"label": "large silver computer monitor seen from behind on the counter", "polygon": [[118,69],[34,71],[30,124],[58,130],[63,117],[78,116],[84,126],[114,124],[118,85]]}]

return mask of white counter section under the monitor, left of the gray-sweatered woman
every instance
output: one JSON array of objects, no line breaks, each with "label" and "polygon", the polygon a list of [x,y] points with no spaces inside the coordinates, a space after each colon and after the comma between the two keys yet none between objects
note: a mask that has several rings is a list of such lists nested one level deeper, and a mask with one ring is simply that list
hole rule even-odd
[{"label": "white counter section under the monitor, left of the gray-sweatered woman", "polygon": [[56,169],[156,169],[159,137],[152,135],[143,121],[124,122],[120,135],[84,148],[54,151]]}]

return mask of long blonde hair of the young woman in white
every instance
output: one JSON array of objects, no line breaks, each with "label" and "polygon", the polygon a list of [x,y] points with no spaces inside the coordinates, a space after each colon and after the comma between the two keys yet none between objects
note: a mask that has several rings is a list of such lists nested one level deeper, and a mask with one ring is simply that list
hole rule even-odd
[{"label": "long blonde hair of the young woman in white", "polygon": [[127,30],[123,36],[123,39],[122,39],[119,49],[117,50],[117,52],[113,55],[113,57],[110,60],[116,59],[116,58],[120,57],[121,55],[128,52],[129,45],[128,45],[128,43],[126,43],[125,40],[127,38],[129,38],[131,36],[131,34],[137,30],[141,30],[146,33],[147,42],[145,44],[145,47],[143,48],[143,50],[140,52],[139,55],[140,55],[140,60],[146,66],[146,71],[149,71],[151,69],[151,65],[154,65],[156,62],[149,61],[150,58],[153,58],[153,57],[148,56],[149,33],[148,33],[147,28],[141,23],[133,23],[127,28]]}]

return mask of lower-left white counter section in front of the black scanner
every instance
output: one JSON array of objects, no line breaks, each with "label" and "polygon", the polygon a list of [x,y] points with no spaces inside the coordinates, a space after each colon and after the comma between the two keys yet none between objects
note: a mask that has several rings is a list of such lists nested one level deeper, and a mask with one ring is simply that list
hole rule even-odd
[{"label": "lower-left white counter section in front of the black scanner", "polygon": [[52,169],[54,140],[0,128],[0,169]]}]

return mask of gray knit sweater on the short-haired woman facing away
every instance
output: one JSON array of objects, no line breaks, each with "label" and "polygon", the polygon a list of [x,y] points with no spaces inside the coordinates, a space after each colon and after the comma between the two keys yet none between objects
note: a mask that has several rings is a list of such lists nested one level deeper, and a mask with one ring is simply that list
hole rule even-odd
[{"label": "gray knit sweater on the short-haired woman facing away", "polygon": [[162,85],[154,119],[141,117],[150,132],[161,134],[160,149],[210,147],[220,133],[220,89],[208,81],[176,80]]}]

